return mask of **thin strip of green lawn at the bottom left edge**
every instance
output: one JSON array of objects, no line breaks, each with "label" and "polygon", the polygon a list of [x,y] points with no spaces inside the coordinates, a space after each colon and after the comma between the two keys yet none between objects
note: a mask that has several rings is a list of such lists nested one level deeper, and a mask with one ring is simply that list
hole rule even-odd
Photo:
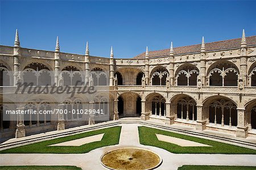
[{"label": "thin strip of green lawn at the bottom left edge", "polygon": [[75,166],[0,166],[0,169],[3,170],[30,170],[30,169],[35,169],[35,170],[81,170],[79,167]]}]

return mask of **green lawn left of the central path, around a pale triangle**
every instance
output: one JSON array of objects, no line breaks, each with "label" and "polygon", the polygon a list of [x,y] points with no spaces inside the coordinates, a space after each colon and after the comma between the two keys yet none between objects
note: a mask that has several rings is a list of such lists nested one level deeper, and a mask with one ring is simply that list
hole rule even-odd
[{"label": "green lawn left of the central path, around a pale triangle", "polygon": [[[71,135],[68,137],[56,138],[49,141],[37,142],[29,145],[9,148],[0,151],[0,154],[82,154],[94,150],[95,148],[118,144],[120,132],[121,126],[115,126],[113,128],[89,131],[86,133]],[[101,141],[86,143],[82,146],[48,146],[101,133],[105,133]]]}]

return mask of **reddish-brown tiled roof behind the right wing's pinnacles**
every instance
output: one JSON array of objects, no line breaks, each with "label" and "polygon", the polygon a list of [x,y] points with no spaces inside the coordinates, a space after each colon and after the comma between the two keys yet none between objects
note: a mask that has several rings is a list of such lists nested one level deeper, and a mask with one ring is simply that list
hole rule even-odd
[{"label": "reddish-brown tiled roof behind the right wing's pinnacles", "polygon": [[[247,45],[256,45],[256,36],[246,37]],[[224,41],[208,42],[205,43],[205,50],[220,50],[220,49],[229,49],[229,48],[238,48],[241,44],[240,39],[231,39]],[[196,53],[200,52],[201,44],[189,45],[189,46],[180,46],[174,48],[174,54],[185,54],[185,53]],[[164,57],[169,56],[170,49],[156,50],[149,52],[149,57]],[[134,58],[144,58],[145,53],[139,54]]]}]

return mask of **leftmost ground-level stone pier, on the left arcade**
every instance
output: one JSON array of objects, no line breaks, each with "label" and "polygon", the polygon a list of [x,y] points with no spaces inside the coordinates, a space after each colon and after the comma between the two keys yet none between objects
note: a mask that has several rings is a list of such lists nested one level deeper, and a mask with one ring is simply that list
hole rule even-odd
[{"label": "leftmost ground-level stone pier, on the left arcade", "polygon": [[22,138],[26,136],[26,130],[24,125],[24,107],[21,105],[17,107],[17,110],[19,110],[19,114],[17,115],[17,128],[15,131],[15,138]]}]

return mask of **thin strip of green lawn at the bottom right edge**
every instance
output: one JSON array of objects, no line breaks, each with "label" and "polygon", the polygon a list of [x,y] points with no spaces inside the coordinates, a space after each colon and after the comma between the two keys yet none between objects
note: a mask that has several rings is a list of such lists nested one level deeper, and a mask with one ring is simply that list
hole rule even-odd
[{"label": "thin strip of green lawn at the bottom right edge", "polygon": [[207,166],[207,165],[183,165],[182,167],[178,168],[179,170],[250,170],[256,169],[256,167],[243,167],[243,166]]}]

